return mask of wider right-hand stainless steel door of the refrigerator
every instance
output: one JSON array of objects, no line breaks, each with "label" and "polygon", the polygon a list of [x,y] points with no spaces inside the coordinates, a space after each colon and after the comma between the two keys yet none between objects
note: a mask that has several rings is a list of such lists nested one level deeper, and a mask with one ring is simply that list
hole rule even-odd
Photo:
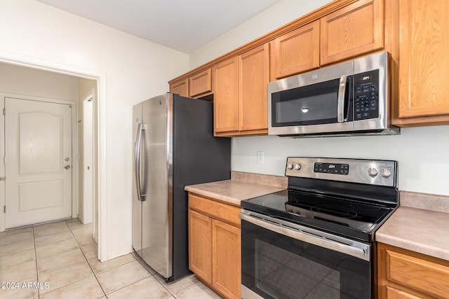
[{"label": "wider right-hand stainless steel door of the refrigerator", "polygon": [[172,276],[172,103],[162,95],[142,107],[142,259],[166,278]]}]

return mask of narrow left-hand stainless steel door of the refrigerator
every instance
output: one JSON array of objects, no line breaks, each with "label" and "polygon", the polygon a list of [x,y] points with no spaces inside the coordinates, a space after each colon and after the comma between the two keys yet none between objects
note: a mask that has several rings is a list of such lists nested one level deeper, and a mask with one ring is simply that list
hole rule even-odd
[{"label": "narrow left-hand stainless steel door of the refrigerator", "polygon": [[[134,106],[133,109],[133,142],[134,149],[142,153],[142,146],[136,148],[136,142],[138,137],[138,127],[142,123],[142,103]],[[133,249],[142,257],[142,202],[137,193],[136,177],[141,177],[140,174],[136,174],[135,159],[136,151],[133,152]],[[142,159],[140,159],[140,170],[142,169]]]}]

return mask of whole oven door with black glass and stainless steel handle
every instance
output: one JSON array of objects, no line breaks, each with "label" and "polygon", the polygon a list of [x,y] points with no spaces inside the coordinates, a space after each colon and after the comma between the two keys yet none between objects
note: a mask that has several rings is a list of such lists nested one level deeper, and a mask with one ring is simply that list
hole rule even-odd
[{"label": "whole oven door with black glass and stainless steel handle", "polygon": [[242,298],[373,298],[371,245],[242,210]]}]

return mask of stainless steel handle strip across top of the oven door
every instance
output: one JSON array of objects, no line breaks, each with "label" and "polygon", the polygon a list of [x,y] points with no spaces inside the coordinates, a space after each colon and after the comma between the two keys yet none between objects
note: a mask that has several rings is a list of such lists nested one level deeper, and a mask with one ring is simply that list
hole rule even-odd
[{"label": "stainless steel handle strip across top of the oven door", "polygon": [[254,225],[287,237],[292,237],[293,239],[345,253],[349,256],[361,258],[362,260],[370,260],[370,244],[364,244],[351,239],[331,235],[326,232],[321,232],[320,230],[314,230],[313,228],[307,228],[302,225],[297,225],[295,223],[290,223],[288,221],[283,221],[278,218],[244,209],[239,213],[239,217],[243,221],[248,221]]}]

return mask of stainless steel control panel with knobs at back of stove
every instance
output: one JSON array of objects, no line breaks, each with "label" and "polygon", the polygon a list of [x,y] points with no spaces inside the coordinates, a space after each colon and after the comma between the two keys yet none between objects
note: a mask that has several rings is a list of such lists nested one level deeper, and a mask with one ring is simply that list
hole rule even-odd
[{"label": "stainless steel control panel with knobs at back of stove", "polygon": [[289,157],[286,176],[396,186],[396,161]]}]

